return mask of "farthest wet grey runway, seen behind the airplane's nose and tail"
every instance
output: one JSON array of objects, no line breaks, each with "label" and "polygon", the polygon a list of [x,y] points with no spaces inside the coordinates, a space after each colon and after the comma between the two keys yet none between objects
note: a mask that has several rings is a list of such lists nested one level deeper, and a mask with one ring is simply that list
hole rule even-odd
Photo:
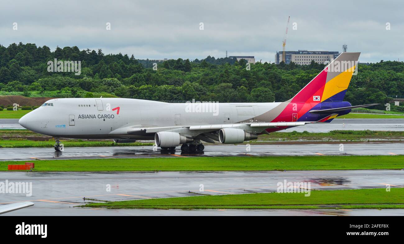
[{"label": "farthest wet grey runway, seen behind the airplane's nose and tail", "polygon": [[[18,119],[0,119],[0,129],[24,129],[18,124]],[[330,130],[393,130],[404,131],[404,116],[402,119],[335,119],[330,123],[306,124],[281,132],[329,132]]]}]

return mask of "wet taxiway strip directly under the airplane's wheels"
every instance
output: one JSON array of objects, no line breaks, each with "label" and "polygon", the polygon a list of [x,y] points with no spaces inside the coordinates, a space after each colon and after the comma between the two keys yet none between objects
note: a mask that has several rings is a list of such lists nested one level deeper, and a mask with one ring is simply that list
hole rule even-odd
[{"label": "wet taxiway strip directly under the airplane's wheels", "polygon": [[[343,146],[341,146],[343,144]],[[170,156],[287,156],[287,155],[404,155],[404,143],[335,143],[301,145],[207,145],[203,152],[191,154],[160,147],[67,147],[63,152],[53,148],[2,148],[0,160],[47,160],[83,158],[150,158]]]}]

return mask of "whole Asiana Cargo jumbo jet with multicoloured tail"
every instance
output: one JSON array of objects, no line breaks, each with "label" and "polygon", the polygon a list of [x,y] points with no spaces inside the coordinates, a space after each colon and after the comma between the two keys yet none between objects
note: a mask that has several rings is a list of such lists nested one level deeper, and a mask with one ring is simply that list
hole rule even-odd
[{"label": "whole Asiana Cargo jumbo jet with multicoloured tail", "polygon": [[203,151],[201,141],[237,144],[295,126],[331,122],[351,109],[343,101],[360,53],[341,53],[285,102],[165,103],[127,98],[55,98],[24,115],[19,124],[60,138],[153,140],[161,149]]}]

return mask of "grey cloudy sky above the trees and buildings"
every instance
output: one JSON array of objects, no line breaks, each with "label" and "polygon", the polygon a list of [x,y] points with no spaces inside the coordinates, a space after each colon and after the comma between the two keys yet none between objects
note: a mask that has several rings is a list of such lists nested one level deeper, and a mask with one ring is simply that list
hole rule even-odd
[{"label": "grey cloudy sky above the trees and buildings", "polygon": [[15,0],[1,2],[0,44],[102,48],[138,59],[225,57],[227,50],[273,62],[290,16],[286,50],[347,44],[362,52],[360,62],[404,60],[403,13],[401,0]]}]

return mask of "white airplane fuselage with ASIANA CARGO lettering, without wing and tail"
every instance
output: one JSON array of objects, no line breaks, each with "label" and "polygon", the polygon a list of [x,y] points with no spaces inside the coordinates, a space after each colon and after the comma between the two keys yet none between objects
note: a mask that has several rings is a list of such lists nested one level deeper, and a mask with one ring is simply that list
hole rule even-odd
[{"label": "white airplane fuselage with ASIANA CARGO lettering, without wing and tail", "polygon": [[[128,135],[122,128],[233,124],[254,120],[254,117],[279,104],[198,105],[126,98],[63,98],[46,101],[41,107],[23,116],[19,123],[36,133],[53,137],[153,139],[153,135]],[[260,122],[269,121],[263,121],[261,118]]]}]

